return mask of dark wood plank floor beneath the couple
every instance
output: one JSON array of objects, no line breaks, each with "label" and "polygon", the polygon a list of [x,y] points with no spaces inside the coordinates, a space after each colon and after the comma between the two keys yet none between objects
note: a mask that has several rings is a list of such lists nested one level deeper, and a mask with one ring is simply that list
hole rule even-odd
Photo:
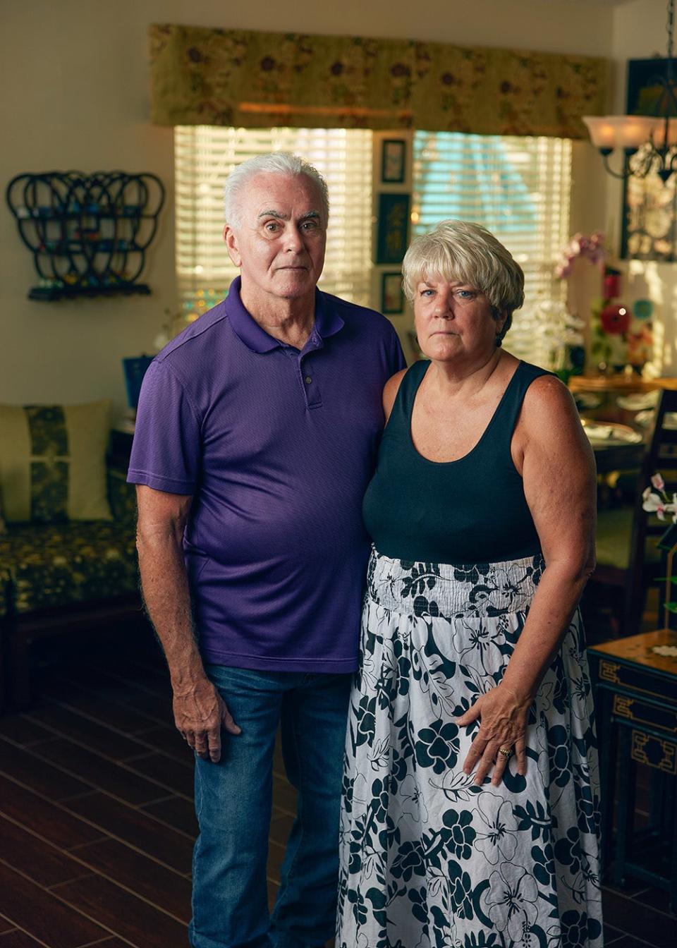
[{"label": "dark wood plank floor beneath the couple", "polygon": [[[192,760],[147,629],[38,650],[37,697],[0,717],[0,948],[188,944]],[[294,793],[275,767],[271,901]],[[665,893],[604,890],[606,945],[667,948]]]}]

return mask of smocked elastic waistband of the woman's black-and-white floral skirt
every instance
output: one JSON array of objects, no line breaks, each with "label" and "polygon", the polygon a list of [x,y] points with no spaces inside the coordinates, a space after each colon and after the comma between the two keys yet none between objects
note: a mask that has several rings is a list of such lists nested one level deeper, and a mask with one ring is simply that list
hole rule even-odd
[{"label": "smocked elastic waistband of the woman's black-and-white floral skirt", "polygon": [[543,557],[502,563],[412,563],[373,548],[367,595],[405,615],[441,618],[495,616],[529,608],[544,569]]}]

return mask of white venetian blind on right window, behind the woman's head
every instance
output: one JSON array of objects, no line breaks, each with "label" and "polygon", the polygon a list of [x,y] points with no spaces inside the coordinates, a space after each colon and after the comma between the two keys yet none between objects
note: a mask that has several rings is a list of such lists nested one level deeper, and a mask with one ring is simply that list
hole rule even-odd
[{"label": "white venetian blind on right window, behind the woman's head", "polygon": [[412,235],[454,217],[498,237],[525,278],[524,307],[506,346],[539,364],[548,358],[540,304],[563,299],[553,270],[569,237],[571,154],[568,138],[421,131],[413,137]]}]

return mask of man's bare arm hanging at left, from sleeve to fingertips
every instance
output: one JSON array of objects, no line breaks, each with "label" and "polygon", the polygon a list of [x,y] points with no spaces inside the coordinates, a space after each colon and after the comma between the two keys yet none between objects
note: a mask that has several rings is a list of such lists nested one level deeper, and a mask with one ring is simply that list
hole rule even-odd
[{"label": "man's bare arm hanging at left, from sleeve to fingertips", "polygon": [[174,722],[199,757],[221,757],[221,728],[240,734],[205,674],[192,630],[183,531],[192,497],[137,485],[137,550],[146,609],[164,648],[174,691]]}]

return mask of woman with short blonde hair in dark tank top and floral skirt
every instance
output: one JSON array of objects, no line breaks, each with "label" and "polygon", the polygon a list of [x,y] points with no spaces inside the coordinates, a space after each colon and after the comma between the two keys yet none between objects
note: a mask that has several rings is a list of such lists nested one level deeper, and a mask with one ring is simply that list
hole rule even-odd
[{"label": "woman with short blonde hair in dark tank top and floral skirt", "polygon": [[503,350],[523,274],[495,237],[443,221],[403,272],[430,361],[386,385],[364,500],[337,944],[598,948],[593,456]]}]

